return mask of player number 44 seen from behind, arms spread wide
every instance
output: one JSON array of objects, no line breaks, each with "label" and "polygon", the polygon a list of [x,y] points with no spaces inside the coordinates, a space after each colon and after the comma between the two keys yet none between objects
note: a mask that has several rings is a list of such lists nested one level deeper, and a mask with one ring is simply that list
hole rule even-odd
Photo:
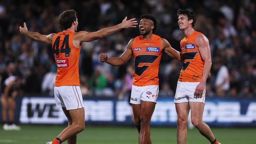
[{"label": "player number 44 seen from behind, arms spread wide", "polygon": [[126,19],[127,17],[124,18],[121,24],[96,32],[76,32],[78,26],[77,13],[74,10],[67,10],[59,16],[59,26],[63,31],[57,34],[41,35],[30,32],[26,27],[26,23],[24,23],[24,28],[20,27],[20,33],[35,41],[52,45],[58,67],[54,85],[54,97],[57,107],[62,107],[67,116],[69,126],[56,139],[52,142],[46,142],[46,144],[61,144],[65,140],[68,141],[68,144],[76,144],[76,134],[85,128],[83,99],[78,73],[81,42],[107,37],[123,28],[136,27],[137,21],[134,20],[135,18]]}]

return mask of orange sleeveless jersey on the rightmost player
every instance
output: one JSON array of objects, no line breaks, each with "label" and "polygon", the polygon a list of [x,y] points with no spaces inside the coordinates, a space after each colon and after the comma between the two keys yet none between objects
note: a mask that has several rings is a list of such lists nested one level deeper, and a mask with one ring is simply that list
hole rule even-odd
[{"label": "orange sleeveless jersey on the rightmost player", "polygon": [[199,82],[202,79],[204,61],[195,43],[195,38],[199,34],[202,33],[194,31],[191,35],[184,37],[180,43],[184,62],[178,81]]}]

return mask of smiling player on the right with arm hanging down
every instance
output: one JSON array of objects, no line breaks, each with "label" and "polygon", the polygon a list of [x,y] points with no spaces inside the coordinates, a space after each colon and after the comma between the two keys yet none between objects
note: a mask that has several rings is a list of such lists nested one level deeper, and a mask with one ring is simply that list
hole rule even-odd
[{"label": "smiling player on the right with arm hanging down", "polygon": [[192,124],[211,144],[219,144],[210,127],[202,121],[206,79],[211,69],[211,53],[208,39],[193,29],[196,16],[194,12],[179,9],[178,25],[186,37],[180,42],[183,67],[178,79],[174,103],[178,114],[177,142],[186,144],[187,118],[191,109]]}]

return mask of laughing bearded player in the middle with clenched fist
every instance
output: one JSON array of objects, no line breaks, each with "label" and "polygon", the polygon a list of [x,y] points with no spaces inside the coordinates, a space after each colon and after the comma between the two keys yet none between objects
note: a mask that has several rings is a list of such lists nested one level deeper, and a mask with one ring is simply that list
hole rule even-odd
[{"label": "laughing bearded player in the middle with clenched fist", "polygon": [[152,144],[150,139],[150,120],[158,97],[158,69],[162,52],[180,59],[180,52],[174,50],[168,41],[154,35],[157,28],[156,18],[141,15],[140,36],[131,39],[125,52],[120,57],[109,58],[100,55],[100,61],[114,66],[124,65],[134,57],[135,72],[131,100],[135,126],[139,131],[139,144]]}]

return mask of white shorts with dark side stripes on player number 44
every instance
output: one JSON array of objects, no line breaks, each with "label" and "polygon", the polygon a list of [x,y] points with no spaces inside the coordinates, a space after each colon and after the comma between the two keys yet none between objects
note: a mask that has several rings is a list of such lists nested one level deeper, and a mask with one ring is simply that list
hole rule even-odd
[{"label": "white shorts with dark side stripes on player number 44", "polygon": [[83,97],[79,86],[54,87],[54,98],[57,107],[67,110],[83,108]]}]

